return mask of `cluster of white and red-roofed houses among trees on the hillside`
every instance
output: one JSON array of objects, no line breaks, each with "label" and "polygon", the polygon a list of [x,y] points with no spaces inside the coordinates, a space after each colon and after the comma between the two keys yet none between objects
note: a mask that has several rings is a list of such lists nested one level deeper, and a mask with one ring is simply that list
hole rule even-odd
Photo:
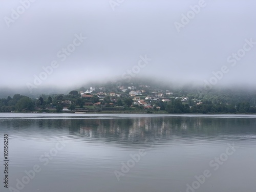
[{"label": "cluster of white and red-roofed houses among trees on the hillside", "polygon": [[[173,92],[169,90],[151,89],[150,86],[139,85],[118,86],[115,92],[110,92],[105,87],[90,87],[83,91],[71,91],[69,94],[79,96],[77,102],[71,100],[62,100],[62,111],[74,110],[75,112],[88,111],[123,111],[126,108],[130,110],[144,111],[165,111],[165,106],[174,99],[179,99],[183,104],[188,103],[186,97],[174,97]],[[199,100],[195,102],[200,103]],[[73,108],[70,105],[73,104]],[[75,106],[74,105],[79,105]],[[94,108],[92,106],[95,106]]]}]

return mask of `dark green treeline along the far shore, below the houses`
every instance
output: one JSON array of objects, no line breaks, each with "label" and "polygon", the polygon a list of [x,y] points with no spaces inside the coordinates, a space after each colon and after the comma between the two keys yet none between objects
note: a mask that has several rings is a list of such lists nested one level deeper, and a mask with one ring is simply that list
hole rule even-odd
[{"label": "dark green treeline along the far shore, below the houses", "polygon": [[[71,102],[66,103],[67,100]],[[15,94],[12,98],[8,96],[7,98],[0,99],[0,112],[48,109],[61,111],[63,106],[66,106],[69,110],[75,110],[76,108],[83,108],[86,102],[100,102],[104,106],[124,106],[124,109],[128,110],[132,110],[130,106],[133,106],[133,109],[145,110],[141,105],[134,105],[132,98],[128,96],[116,99],[106,96],[103,100],[100,100],[97,95],[80,98],[80,94],[77,91],[71,91],[66,95],[41,95],[37,99],[31,99],[20,94]],[[159,110],[168,113],[256,113],[256,107],[252,106],[249,101],[227,104],[227,102],[216,101],[216,99],[204,99],[198,103],[190,98],[185,102],[175,98],[172,98],[170,102],[156,101],[151,103],[151,108],[147,108],[147,112]]]}]

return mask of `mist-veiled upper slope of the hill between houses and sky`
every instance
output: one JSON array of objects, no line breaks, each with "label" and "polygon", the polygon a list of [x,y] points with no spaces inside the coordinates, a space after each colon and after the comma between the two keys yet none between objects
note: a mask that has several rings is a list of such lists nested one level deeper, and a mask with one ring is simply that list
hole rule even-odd
[{"label": "mist-veiled upper slope of the hill between houses and sky", "polygon": [[[96,88],[96,92],[121,92],[121,89],[127,89],[131,86],[134,86],[136,90],[143,90],[145,86],[148,87],[150,91],[156,91],[159,93],[164,93],[166,91],[174,92],[177,96],[187,96],[187,95],[198,95],[198,96],[205,96],[205,95],[223,95],[226,97],[227,95],[240,95],[241,97],[245,98],[249,97],[256,97],[256,87],[246,85],[246,84],[228,84],[226,86],[219,85],[214,86],[211,89],[205,89],[202,84],[198,84],[196,82],[171,82],[167,80],[163,80],[161,78],[134,78],[131,81],[127,82],[123,79],[106,79],[106,80],[97,80],[97,81],[90,81],[84,82],[81,84],[76,84],[75,86],[69,86],[66,88],[58,87],[58,86],[46,86],[46,87],[39,87],[35,89],[32,93],[28,91],[26,87],[20,88],[1,88],[0,90],[0,98],[7,98],[8,96],[13,96],[14,94],[21,94],[26,95],[31,98],[38,98],[40,95],[56,95],[56,94],[69,94],[70,91],[86,91],[90,90],[91,87]],[[100,89],[100,88],[103,88]],[[146,94],[150,95],[150,93]]]}]

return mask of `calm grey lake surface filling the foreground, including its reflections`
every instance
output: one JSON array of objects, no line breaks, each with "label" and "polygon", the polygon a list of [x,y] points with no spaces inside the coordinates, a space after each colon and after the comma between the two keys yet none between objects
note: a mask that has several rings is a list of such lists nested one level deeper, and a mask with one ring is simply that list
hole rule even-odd
[{"label": "calm grey lake surface filling the foreground, including its reflections", "polygon": [[255,115],[0,114],[4,134],[9,189],[256,191]]}]

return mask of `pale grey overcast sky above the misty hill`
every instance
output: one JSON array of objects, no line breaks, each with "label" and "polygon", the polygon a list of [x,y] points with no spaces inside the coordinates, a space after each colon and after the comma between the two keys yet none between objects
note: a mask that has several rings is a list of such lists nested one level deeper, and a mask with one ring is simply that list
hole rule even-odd
[{"label": "pale grey overcast sky above the misty hill", "polygon": [[[34,84],[54,60],[37,87],[128,78],[126,70],[138,70],[134,66],[145,55],[136,77],[204,83],[226,66],[218,84],[256,80],[254,0],[0,2],[0,86]],[[77,36],[82,39],[74,41]],[[64,57],[68,46],[75,50]]]}]

